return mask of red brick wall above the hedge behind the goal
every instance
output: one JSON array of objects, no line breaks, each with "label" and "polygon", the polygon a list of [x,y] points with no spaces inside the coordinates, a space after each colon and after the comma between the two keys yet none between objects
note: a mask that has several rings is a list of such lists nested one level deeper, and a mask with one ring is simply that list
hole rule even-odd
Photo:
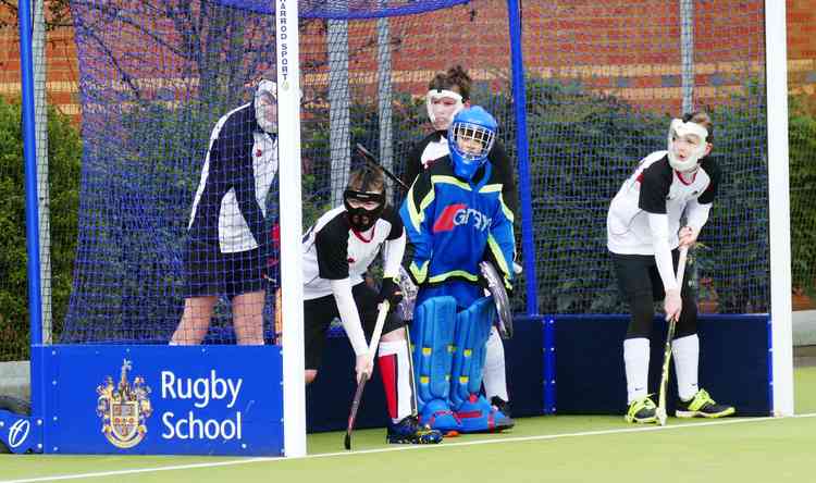
[{"label": "red brick wall above the hedge behind the goal", "polygon": [[[679,104],[678,2],[642,0],[638,3],[640,9],[644,2],[654,11],[650,22],[633,21],[636,7],[626,3],[610,9],[594,0],[522,2],[528,67],[544,76],[572,76],[595,89],[646,106],[652,102],[668,109],[668,104]],[[737,69],[737,60],[729,58],[729,52],[738,52],[740,58],[746,57],[746,52],[749,58],[763,58],[757,21],[762,17],[762,2],[746,3],[739,0],[697,3],[695,48],[713,52],[705,59],[696,59],[698,84],[708,83],[710,76],[721,77],[722,69],[726,73]],[[787,9],[789,84],[792,91],[816,97],[816,0],[787,0]],[[16,18],[9,15],[8,10],[0,9],[0,20],[8,23],[0,28],[0,95],[18,97]],[[445,15],[445,25],[434,25],[433,15],[419,15],[410,21],[407,37],[411,39],[410,46],[406,42],[394,58],[396,75],[401,76],[398,82],[420,94],[434,71],[456,61],[462,62],[478,81],[495,81],[495,71],[509,66],[505,0],[458,7]],[[705,20],[701,22],[702,17]],[[740,18],[754,26],[733,27]],[[320,35],[312,38],[304,35],[301,40],[305,54],[309,51],[309,40],[324,41]],[[641,47],[634,49],[635,45]],[[449,54],[440,55],[440,51]],[[71,28],[48,33],[47,59],[49,102],[78,120],[78,67]],[[370,72],[367,69],[371,66],[368,64],[373,64],[373,59],[361,59],[353,67],[367,77]],[[722,96],[729,88],[738,86],[720,79],[716,89],[701,88],[698,96],[706,101],[707,97]],[[646,100],[650,98],[653,100]]]}]

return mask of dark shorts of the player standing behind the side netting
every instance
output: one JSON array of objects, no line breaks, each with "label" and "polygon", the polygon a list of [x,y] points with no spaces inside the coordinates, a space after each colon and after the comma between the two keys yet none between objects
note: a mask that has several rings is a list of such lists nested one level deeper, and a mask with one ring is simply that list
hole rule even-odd
[{"label": "dark shorts of the player standing behind the side netting", "polygon": [[187,297],[224,295],[230,298],[267,287],[261,249],[222,253],[218,247],[188,242],[184,252]]}]

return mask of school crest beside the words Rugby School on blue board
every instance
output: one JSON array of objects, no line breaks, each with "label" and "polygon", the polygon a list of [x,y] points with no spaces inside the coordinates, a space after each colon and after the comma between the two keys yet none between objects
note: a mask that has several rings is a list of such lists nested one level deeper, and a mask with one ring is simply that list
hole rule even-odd
[{"label": "school crest beside the words Rugby School on blue board", "polygon": [[127,380],[131,369],[131,361],[125,359],[118,384],[109,375],[97,386],[97,416],[102,419],[102,433],[113,446],[123,449],[132,448],[145,438],[147,419],[153,412],[150,387],[139,375],[131,384]]}]

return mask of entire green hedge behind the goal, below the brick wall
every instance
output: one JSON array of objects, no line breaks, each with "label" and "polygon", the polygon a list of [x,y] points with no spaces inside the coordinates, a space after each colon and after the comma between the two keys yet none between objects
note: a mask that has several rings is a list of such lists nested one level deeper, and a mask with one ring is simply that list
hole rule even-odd
[{"label": "entire green hedge behind the goal, below the brick wall", "polygon": [[[717,152],[726,177],[720,202],[712,213],[712,230],[704,232],[691,276],[709,277],[720,296],[720,311],[767,309],[767,194],[754,189],[757,171],[764,166],[764,149],[756,138],[765,127],[755,117],[764,112],[756,99],[762,86],[749,86],[746,95],[714,110]],[[424,128],[423,104],[408,95],[395,102],[394,145],[396,171],[407,149]],[[502,140],[516,157],[512,99],[489,96],[478,89],[474,101],[485,104],[500,123]],[[752,104],[754,102],[754,104]],[[758,103],[757,103],[758,102]],[[152,159],[125,160],[141,179],[143,195],[159,200],[159,211],[178,223],[164,230],[166,239],[177,240],[189,209],[206,149],[211,116],[196,109],[168,111],[146,107],[124,123],[136,138],[145,139],[138,153]],[[376,152],[378,123],[374,104],[354,104],[353,144],[361,141]],[[665,144],[668,114],[632,109],[614,97],[592,94],[580,84],[552,79],[528,79],[528,129],[532,154],[533,234],[539,276],[539,310],[542,313],[617,312],[622,310],[615,290],[605,251],[608,202],[620,183],[644,154]],[[320,109],[310,119],[325,119]],[[24,359],[28,347],[26,300],[25,213],[23,194],[22,134],[18,103],[0,103],[0,360]],[[139,122],[161,120],[159,124]],[[304,124],[306,196],[304,222],[308,224],[327,205],[329,158],[325,123]],[[161,133],[159,133],[161,132]],[[162,134],[163,133],[163,134]],[[161,134],[161,135],[160,135]],[[66,313],[77,239],[77,206],[82,145],[70,121],[49,112],[49,161],[53,263],[53,320],[59,332]],[[764,144],[763,144],[764,146]],[[135,154],[134,154],[135,156]],[[790,109],[791,231],[793,282],[813,292],[816,273],[816,119],[798,99]],[[318,166],[322,166],[318,169]],[[742,171],[741,171],[742,170]],[[752,174],[753,173],[753,174]],[[759,184],[765,183],[764,175]],[[754,189],[752,191],[752,189]],[[750,196],[745,196],[750,194]],[[747,219],[746,219],[747,218]],[[176,242],[174,242],[176,243]],[[173,247],[165,247],[173,251]],[[576,262],[579,260],[580,262]],[[115,274],[113,274],[115,275]],[[113,276],[112,275],[112,276]],[[114,278],[118,277],[113,276]],[[523,277],[520,281],[523,283]],[[523,290],[517,290],[517,309],[523,308]]]}]

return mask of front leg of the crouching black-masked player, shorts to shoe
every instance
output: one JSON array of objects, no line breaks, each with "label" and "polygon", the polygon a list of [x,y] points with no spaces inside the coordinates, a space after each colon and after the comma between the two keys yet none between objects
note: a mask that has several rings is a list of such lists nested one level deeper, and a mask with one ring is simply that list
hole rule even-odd
[{"label": "front leg of the crouching black-masked player, shorts to shoe", "polygon": [[[370,338],[379,312],[378,293],[364,283],[355,286],[353,293],[363,331]],[[386,439],[388,443],[438,443],[442,441],[438,431],[419,424],[408,332],[395,310],[393,307],[385,319],[378,348],[378,366],[391,418]]]}]

